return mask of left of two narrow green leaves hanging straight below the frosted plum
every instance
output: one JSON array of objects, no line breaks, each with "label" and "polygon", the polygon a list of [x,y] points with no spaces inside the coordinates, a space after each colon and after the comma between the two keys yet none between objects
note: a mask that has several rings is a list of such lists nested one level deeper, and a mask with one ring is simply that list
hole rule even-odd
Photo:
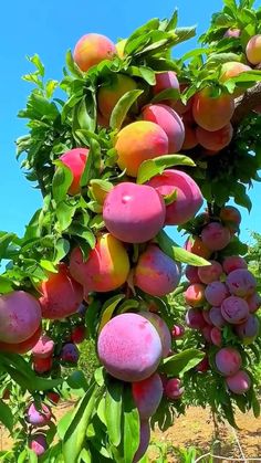
[{"label": "left of two narrow green leaves hanging straight below the frosted plum", "polygon": [[122,440],[123,382],[109,380],[105,397],[105,418],[111,443],[118,446]]}]

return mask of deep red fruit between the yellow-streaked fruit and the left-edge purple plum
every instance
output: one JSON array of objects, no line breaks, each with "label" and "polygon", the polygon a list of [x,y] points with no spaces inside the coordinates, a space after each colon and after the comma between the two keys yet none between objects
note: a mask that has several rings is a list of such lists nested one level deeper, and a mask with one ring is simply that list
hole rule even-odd
[{"label": "deep red fruit between the yellow-streaked fruit and the left-edge purple plum", "polygon": [[82,286],[73,280],[64,263],[59,264],[58,273],[50,273],[49,278],[41,283],[40,292],[42,316],[50,319],[75,314],[83,299]]}]

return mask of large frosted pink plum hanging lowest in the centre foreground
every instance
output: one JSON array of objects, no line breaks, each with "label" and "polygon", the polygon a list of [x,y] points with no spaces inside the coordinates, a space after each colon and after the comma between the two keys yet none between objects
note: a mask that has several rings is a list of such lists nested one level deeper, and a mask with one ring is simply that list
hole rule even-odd
[{"label": "large frosted pink plum hanging lowest in the centre foreground", "polygon": [[103,327],[97,352],[109,375],[122,381],[135,382],[156,371],[163,347],[150,322],[138,314],[127,313],[117,315]]}]

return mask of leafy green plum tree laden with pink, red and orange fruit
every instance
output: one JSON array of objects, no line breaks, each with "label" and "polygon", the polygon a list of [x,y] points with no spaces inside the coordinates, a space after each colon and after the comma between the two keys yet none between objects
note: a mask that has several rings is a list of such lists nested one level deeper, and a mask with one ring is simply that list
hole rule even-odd
[{"label": "leafy green plum tree laden with pink, red and orange fruit", "polygon": [[177,23],[175,11],[117,43],[86,31],[60,83],[30,59],[17,148],[43,203],[22,238],[0,235],[3,462],[145,461],[186,389],[234,427],[237,407],[259,415],[261,296],[227,202],[250,211],[260,179],[261,10],[223,0],[179,59],[196,30]]}]

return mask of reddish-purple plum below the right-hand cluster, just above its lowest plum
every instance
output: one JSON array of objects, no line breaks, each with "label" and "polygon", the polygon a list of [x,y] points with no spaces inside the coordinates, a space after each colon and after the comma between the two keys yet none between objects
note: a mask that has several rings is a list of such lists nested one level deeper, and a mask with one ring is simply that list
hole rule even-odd
[{"label": "reddish-purple plum below the right-hand cluster, just above its lowest plum", "polygon": [[222,376],[234,375],[242,365],[242,358],[233,347],[222,347],[215,357],[216,366]]}]

